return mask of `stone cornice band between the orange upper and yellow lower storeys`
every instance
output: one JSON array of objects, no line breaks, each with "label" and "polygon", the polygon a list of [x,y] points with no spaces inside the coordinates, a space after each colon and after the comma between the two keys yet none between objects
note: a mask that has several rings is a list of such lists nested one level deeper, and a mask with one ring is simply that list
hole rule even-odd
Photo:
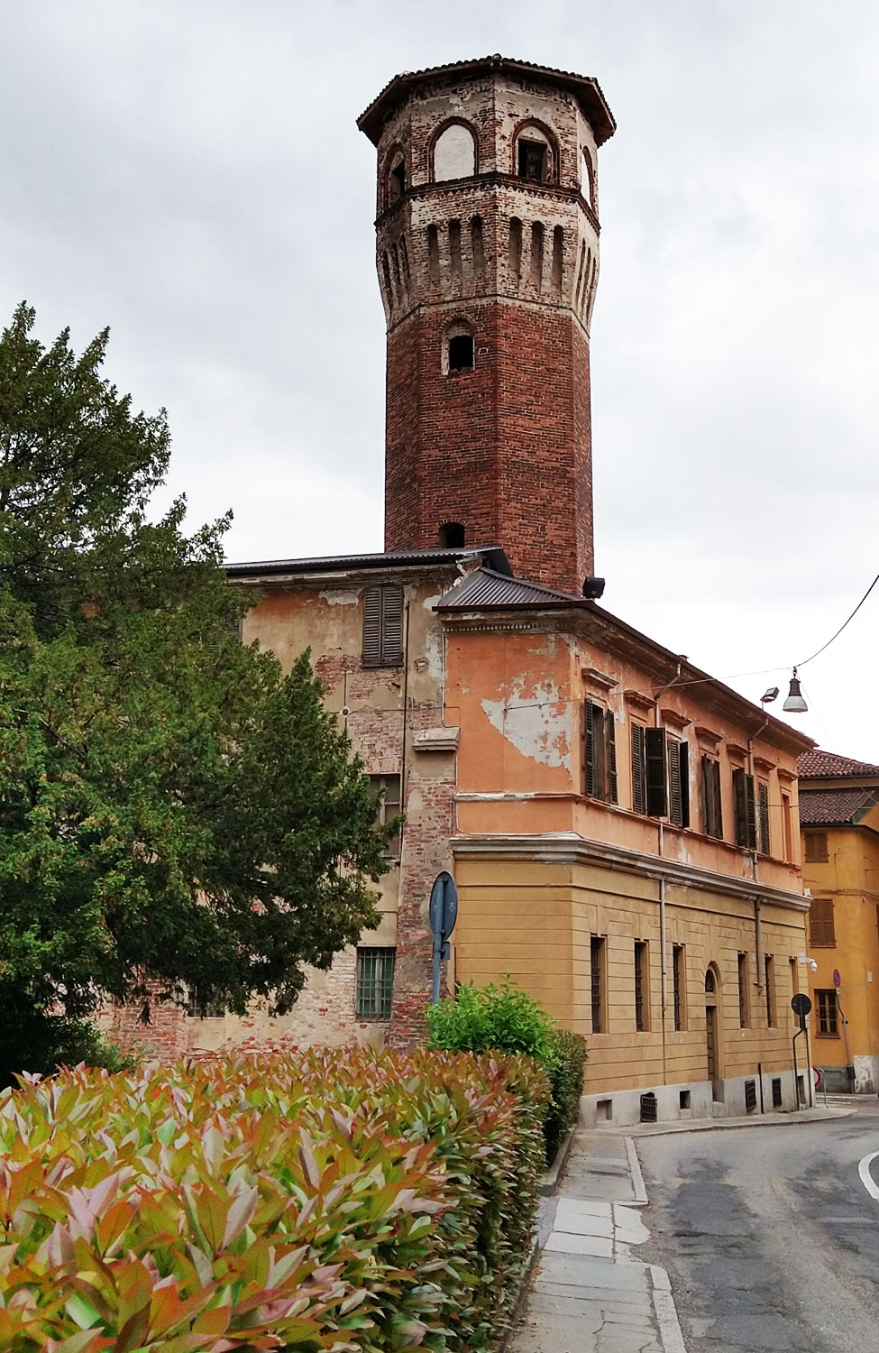
[{"label": "stone cornice band between the orange upper and yellow lower storeys", "polygon": [[453,836],[454,855],[504,855],[507,858],[538,859],[545,865],[602,865],[641,878],[664,878],[680,888],[699,888],[707,893],[726,893],[740,901],[772,902],[792,911],[807,912],[811,898],[790,893],[752,878],[718,874],[698,865],[683,865],[676,859],[663,859],[642,851],[611,846],[607,842],[575,836],[573,832],[550,832],[540,836],[487,835]]}]

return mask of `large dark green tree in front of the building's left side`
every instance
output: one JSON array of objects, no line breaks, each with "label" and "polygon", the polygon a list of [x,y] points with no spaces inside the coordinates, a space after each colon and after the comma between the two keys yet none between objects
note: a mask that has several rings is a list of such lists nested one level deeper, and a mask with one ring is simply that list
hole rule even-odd
[{"label": "large dark green tree in front of the building's left side", "polygon": [[107,994],[276,1012],[376,923],[362,766],[308,655],[238,640],[229,518],[146,518],[164,411],[133,414],[22,306],[0,337],[0,1069],[93,1043]]}]

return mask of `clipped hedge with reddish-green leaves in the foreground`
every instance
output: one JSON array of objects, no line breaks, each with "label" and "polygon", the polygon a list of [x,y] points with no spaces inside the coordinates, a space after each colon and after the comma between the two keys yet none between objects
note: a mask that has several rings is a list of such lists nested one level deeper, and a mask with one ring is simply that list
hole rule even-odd
[{"label": "clipped hedge with reddish-green leaves in the foreground", "polygon": [[531,1062],[77,1068],[0,1096],[0,1348],[490,1349],[530,1245]]}]

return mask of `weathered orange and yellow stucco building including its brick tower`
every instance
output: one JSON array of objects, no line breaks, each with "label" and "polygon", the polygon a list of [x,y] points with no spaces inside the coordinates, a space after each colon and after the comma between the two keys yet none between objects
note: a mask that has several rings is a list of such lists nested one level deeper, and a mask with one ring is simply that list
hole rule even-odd
[{"label": "weathered orange and yellow stucco building including its brick tower", "polygon": [[510,974],[584,1034],[588,1122],[791,1108],[813,744],[603,609],[592,575],[604,96],[488,57],[396,77],[360,126],[388,327],[385,552],[229,574],[254,599],[243,640],[284,666],[311,649],[379,810],[404,823],[379,930],[289,1016],[201,1012],[179,1038],[417,1038],[448,869],[446,989]]}]

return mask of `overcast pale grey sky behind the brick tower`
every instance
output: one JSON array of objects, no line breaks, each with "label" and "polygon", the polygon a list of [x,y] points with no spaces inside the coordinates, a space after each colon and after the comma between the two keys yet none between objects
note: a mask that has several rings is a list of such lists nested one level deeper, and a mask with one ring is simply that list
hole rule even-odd
[{"label": "overcast pale grey sky behind the brick tower", "polygon": [[[380,549],[375,152],[398,72],[500,51],[595,76],[604,605],[759,700],[879,571],[872,0],[0,0],[0,318],[112,329],[230,559]],[[879,586],[802,670],[879,762]],[[751,674],[755,675],[738,675]],[[775,710],[780,710],[780,700]],[[794,720],[791,720],[794,721]]]}]

